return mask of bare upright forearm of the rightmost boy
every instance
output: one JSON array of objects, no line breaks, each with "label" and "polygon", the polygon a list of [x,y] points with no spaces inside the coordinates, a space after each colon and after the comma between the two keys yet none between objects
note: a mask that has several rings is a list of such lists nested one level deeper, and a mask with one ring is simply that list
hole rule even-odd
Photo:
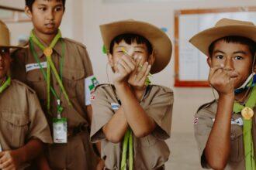
[{"label": "bare upright forearm of the rightmost boy", "polygon": [[206,161],[214,169],[223,169],[230,155],[230,128],[234,94],[220,95],[213,129],[205,148]]}]

